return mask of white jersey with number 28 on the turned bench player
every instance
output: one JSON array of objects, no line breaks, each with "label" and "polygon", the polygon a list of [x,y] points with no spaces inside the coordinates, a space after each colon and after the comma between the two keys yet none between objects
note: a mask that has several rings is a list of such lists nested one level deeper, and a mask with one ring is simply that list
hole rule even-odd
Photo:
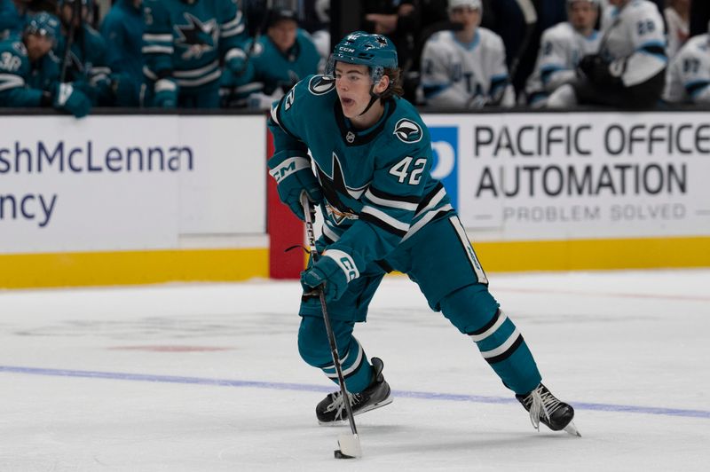
[{"label": "white jersey with number 28 on the turned bench player", "polygon": [[644,83],[667,66],[666,34],[656,4],[631,0],[604,8],[600,54],[625,86]]}]

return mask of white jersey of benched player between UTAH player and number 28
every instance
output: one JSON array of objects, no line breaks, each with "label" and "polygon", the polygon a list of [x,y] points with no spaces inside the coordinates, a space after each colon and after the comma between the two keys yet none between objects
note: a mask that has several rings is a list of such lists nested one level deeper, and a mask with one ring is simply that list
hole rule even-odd
[{"label": "white jersey of benched player between UTAH player and number 28", "polygon": [[572,82],[577,76],[580,59],[587,54],[596,54],[600,39],[598,31],[585,36],[567,22],[546,29],[540,38],[533,75],[525,87],[528,102],[534,104],[563,83]]}]

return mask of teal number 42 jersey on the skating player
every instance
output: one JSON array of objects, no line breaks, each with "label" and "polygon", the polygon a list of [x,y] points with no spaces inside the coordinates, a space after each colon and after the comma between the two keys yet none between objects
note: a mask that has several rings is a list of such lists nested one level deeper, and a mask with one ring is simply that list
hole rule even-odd
[{"label": "teal number 42 jersey on the skating player", "polygon": [[334,241],[328,249],[349,254],[359,271],[454,211],[430,175],[429,130],[404,98],[387,100],[379,122],[356,130],[343,115],[335,79],[312,75],[274,103],[269,127],[272,177],[278,182],[304,166],[311,151],[325,196],[323,235]]}]

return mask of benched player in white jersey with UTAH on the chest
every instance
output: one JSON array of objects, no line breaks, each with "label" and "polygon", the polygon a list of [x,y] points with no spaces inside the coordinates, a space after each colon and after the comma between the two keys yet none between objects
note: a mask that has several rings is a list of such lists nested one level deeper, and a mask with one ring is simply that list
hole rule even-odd
[{"label": "benched player in white jersey with UTAH on the chest", "polygon": [[422,51],[422,92],[427,105],[450,108],[513,106],[515,91],[499,35],[480,28],[481,0],[449,0],[460,31],[432,35]]}]

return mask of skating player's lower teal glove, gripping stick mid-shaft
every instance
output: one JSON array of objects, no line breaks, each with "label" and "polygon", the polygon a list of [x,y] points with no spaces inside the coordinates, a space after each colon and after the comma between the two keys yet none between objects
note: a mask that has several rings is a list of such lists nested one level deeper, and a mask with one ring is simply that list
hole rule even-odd
[{"label": "skating player's lower teal glove, gripping stick mid-shaft", "polygon": [[[343,266],[335,262],[334,257],[338,257]],[[349,272],[345,273],[345,270]],[[332,302],[343,296],[348,288],[348,281],[358,275],[351,257],[342,251],[334,250],[324,253],[310,269],[301,272],[301,285],[313,288],[322,285],[326,301]]]}]

